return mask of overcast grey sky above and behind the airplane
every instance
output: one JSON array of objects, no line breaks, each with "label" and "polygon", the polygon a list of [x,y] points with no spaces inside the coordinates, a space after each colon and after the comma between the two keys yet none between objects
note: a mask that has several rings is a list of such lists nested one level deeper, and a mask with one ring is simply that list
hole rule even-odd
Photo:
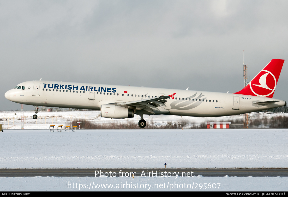
[{"label": "overcast grey sky above and behind the airplane", "polygon": [[[24,81],[56,80],[233,93],[286,59],[288,1],[0,0],[0,110]],[[34,109],[24,106],[24,109]]]}]

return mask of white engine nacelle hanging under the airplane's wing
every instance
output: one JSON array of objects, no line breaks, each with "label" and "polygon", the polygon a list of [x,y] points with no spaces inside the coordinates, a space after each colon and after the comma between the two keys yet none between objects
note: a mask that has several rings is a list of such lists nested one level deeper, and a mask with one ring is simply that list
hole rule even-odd
[{"label": "white engine nacelle hanging under the airplane's wing", "polygon": [[104,118],[133,118],[134,110],[117,105],[101,105],[101,116]]}]

